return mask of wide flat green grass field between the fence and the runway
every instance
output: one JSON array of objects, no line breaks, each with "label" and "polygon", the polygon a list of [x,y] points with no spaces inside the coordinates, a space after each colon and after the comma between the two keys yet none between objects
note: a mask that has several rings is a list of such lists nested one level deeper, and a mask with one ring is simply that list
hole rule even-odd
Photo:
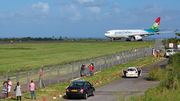
[{"label": "wide flat green grass field between the fence and the runway", "polygon": [[115,43],[26,43],[0,44],[0,75],[9,69],[16,72],[19,68],[26,71],[45,67],[51,63],[85,59],[137,47],[153,46],[154,42],[115,42]]}]

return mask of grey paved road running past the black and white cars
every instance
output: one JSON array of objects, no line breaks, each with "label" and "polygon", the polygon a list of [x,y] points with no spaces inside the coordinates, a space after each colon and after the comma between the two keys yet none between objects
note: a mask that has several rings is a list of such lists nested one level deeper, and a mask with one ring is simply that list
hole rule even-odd
[{"label": "grey paved road running past the black and white cars", "polygon": [[[168,59],[160,61],[155,65],[164,68],[167,65]],[[139,78],[122,78],[110,84],[96,88],[94,97],[89,97],[86,101],[116,101],[119,98],[128,98],[134,94],[144,94],[149,87],[158,85],[159,81],[148,81],[149,69],[148,66],[143,70],[142,76]],[[84,100],[84,99],[66,99],[68,101]]]}]

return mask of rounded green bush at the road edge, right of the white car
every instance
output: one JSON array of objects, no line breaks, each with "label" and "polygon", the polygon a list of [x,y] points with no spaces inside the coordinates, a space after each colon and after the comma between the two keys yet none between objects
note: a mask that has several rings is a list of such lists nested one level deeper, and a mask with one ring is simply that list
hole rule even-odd
[{"label": "rounded green bush at the road edge, right of the white car", "polygon": [[149,80],[161,80],[167,77],[167,72],[161,70],[159,66],[154,66],[150,69],[148,78]]}]

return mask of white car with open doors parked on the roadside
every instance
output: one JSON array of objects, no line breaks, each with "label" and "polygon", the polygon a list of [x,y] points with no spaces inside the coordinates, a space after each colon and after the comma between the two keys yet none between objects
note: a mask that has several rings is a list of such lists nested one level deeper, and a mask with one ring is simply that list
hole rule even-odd
[{"label": "white car with open doors parked on the roadside", "polygon": [[123,69],[123,75],[125,77],[139,77],[142,74],[140,67],[128,67],[126,70]]}]

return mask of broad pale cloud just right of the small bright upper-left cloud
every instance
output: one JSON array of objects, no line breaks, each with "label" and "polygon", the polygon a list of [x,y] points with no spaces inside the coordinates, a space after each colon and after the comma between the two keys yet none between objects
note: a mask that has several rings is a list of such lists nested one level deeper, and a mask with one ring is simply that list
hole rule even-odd
[{"label": "broad pale cloud just right of the small bright upper-left cloud", "polygon": [[59,8],[58,12],[61,14],[62,18],[70,19],[71,21],[77,21],[82,18],[78,8],[73,4],[64,8]]}]

